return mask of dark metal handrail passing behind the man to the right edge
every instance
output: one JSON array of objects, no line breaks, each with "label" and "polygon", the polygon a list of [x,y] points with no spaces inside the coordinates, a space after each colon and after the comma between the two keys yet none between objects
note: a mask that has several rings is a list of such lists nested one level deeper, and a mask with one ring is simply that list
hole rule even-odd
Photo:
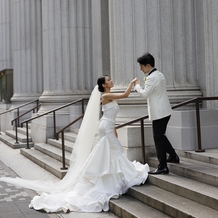
[{"label": "dark metal handrail passing behind the man to the right edge", "polygon": [[[200,101],[210,101],[210,100],[218,100],[218,97],[196,97],[192,98],[190,100],[184,101],[182,103],[176,104],[172,106],[172,109],[176,109],[179,107],[182,107],[184,105],[195,103],[195,111],[196,111],[196,123],[197,123],[197,141],[198,141],[198,149],[196,152],[204,152],[205,150],[202,149],[202,143],[201,143],[201,124],[200,124],[200,107],[199,103]],[[148,118],[148,115],[142,116],[136,119],[133,119],[131,121],[128,121],[126,123],[120,124],[116,126],[116,129],[122,128],[124,126],[128,126],[130,124],[139,122],[141,123],[141,146],[142,146],[142,161],[145,163],[145,140],[144,140],[144,120]]]}]

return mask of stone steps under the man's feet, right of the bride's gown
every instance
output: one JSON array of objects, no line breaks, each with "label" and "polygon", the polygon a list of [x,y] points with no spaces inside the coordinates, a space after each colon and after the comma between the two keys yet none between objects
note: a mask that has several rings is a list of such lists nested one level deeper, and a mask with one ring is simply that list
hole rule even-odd
[{"label": "stone steps under the man's feet, right of the bride's gown", "polygon": [[[111,200],[110,210],[122,218],[218,217],[218,149],[177,153],[180,164],[168,164],[169,175],[149,175],[144,185]],[[148,158],[148,164],[153,169],[157,158]]]}]

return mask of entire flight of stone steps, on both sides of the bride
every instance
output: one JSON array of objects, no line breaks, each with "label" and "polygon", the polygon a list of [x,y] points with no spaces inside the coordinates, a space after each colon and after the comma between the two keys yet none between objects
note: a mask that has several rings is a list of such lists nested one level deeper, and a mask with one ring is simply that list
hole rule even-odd
[{"label": "entire flight of stone steps, on both sides of the bride", "polygon": [[[26,147],[25,129],[18,132],[19,141],[23,140]],[[65,133],[66,165],[76,135],[77,131]],[[9,138],[11,145],[15,142],[13,131],[0,137],[6,144]],[[21,148],[20,152],[61,179],[67,172],[61,169],[61,146],[61,139],[48,139],[47,143],[35,143],[34,148]],[[218,217],[218,149],[177,153],[180,164],[168,164],[169,175],[149,175],[144,185],[132,187],[119,199],[110,200],[110,211],[121,218]],[[149,157],[148,164],[151,169],[156,168],[157,158]]]}]

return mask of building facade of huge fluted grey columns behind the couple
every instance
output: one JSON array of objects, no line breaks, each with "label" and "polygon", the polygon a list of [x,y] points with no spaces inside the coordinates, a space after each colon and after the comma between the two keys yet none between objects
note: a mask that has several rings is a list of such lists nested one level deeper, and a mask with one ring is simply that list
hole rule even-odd
[{"label": "building facade of huge fluted grey columns behind the couple", "polygon": [[[0,71],[14,76],[11,108],[39,98],[40,114],[87,98],[105,74],[114,92],[124,91],[133,78],[143,80],[136,59],[146,51],[167,78],[172,104],[218,95],[216,0],[0,0],[0,14]],[[136,93],[119,103],[119,123],[147,113]],[[59,112],[60,126],[79,110]],[[49,116],[32,126],[35,141],[52,134]]]}]

